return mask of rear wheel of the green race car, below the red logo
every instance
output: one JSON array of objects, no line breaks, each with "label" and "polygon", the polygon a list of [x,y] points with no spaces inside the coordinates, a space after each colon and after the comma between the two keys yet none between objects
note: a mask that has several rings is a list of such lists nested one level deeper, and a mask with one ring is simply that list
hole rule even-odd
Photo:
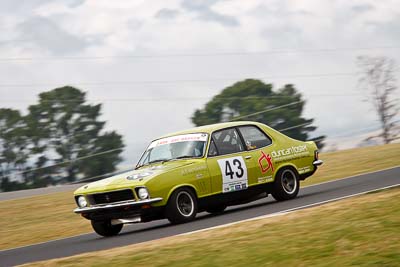
[{"label": "rear wheel of the green race car, below the red logo", "polygon": [[284,168],[276,174],[271,195],[277,201],[293,199],[300,189],[299,175],[292,168]]}]

